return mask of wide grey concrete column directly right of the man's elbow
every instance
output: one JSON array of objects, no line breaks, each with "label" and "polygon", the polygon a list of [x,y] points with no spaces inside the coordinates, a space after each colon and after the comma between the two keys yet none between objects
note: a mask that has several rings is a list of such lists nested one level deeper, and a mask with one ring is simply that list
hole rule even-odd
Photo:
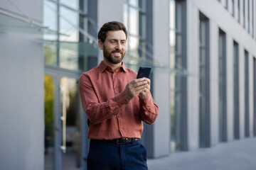
[{"label": "wide grey concrete column directly right of the man's elbow", "polygon": [[[153,1],[153,52],[156,61],[169,66],[169,1]],[[159,19],[161,18],[161,19]],[[164,21],[163,21],[164,20]],[[154,73],[154,100],[159,106],[159,116],[151,131],[152,149],[149,157],[163,157],[169,154],[170,101],[169,72],[156,69]]]}]

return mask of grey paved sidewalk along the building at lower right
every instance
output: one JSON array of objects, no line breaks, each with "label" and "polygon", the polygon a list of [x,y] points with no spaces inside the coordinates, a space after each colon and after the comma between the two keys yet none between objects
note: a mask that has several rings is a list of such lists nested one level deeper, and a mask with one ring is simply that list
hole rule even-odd
[{"label": "grey paved sidewalk along the building at lower right", "polygon": [[148,159],[149,170],[256,170],[256,137]]}]

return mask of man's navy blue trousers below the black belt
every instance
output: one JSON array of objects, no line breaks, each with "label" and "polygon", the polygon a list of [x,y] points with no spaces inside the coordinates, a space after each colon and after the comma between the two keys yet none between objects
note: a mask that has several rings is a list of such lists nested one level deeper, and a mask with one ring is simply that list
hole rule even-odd
[{"label": "man's navy blue trousers below the black belt", "polygon": [[144,170],[146,149],[140,141],[124,145],[112,142],[91,140],[87,157],[87,170]]}]

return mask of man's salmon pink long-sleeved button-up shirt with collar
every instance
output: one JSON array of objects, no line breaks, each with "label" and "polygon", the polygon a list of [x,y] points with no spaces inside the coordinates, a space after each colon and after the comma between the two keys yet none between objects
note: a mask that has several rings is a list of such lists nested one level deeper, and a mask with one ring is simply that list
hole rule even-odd
[{"label": "man's salmon pink long-sleeved button-up shirt with collar", "polygon": [[87,114],[89,139],[140,139],[142,121],[154,123],[159,108],[151,94],[144,100],[138,94],[131,101],[124,96],[125,86],[136,77],[137,73],[125,67],[123,62],[115,72],[102,61],[99,66],[81,74],[79,90]]}]

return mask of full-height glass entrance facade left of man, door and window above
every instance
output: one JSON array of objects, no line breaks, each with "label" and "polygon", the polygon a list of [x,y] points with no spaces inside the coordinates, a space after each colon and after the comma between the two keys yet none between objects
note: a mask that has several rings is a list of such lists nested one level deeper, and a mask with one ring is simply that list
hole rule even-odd
[{"label": "full-height glass entrance facade left of man, door and window above", "polygon": [[82,169],[86,118],[78,79],[97,64],[97,38],[92,35],[97,24],[88,17],[88,8],[93,10],[87,0],[44,0],[43,5],[45,94],[51,97],[45,97],[45,169]]}]

